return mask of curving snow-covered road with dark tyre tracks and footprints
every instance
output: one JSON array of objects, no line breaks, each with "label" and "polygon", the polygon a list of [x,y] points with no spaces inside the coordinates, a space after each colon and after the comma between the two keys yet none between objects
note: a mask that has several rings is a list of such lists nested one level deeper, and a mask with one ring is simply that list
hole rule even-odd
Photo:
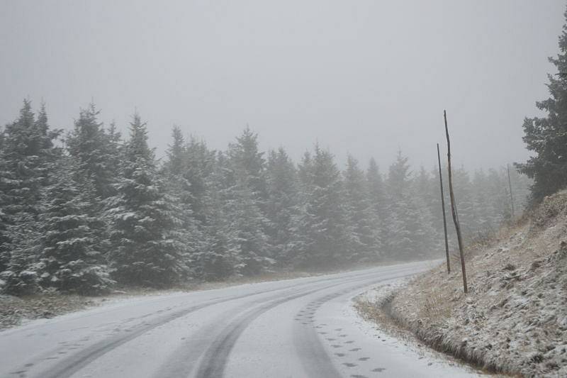
[{"label": "curving snow-covered road with dark tyre tracks and footprints", "polygon": [[34,321],[0,332],[0,377],[473,376],[377,337],[352,309],[369,287],[427,267],[140,297]]}]

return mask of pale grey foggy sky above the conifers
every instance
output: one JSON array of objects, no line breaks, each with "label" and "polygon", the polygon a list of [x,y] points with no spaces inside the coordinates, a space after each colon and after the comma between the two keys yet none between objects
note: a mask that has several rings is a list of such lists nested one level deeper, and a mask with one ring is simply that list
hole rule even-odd
[{"label": "pale grey foggy sky above the conifers", "polygon": [[43,99],[72,128],[91,99],[161,153],[173,124],[224,149],[248,124],[298,159],[316,140],[383,172],[432,167],[447,109],[457,164],[522,161],[548,96],[563,0],[0,0],[0,123]]}]

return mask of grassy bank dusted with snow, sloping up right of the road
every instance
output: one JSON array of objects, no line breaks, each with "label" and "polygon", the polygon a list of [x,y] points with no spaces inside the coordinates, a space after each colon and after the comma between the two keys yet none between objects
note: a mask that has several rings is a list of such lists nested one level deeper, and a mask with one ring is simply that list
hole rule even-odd
[{"label": "grassy bank dusted with snow, sloping up right of the road", "polygon": [[489,371],[567,377],[567,191],[467,260],[468,294],[454,257],[449,276],[443,264],[416,277],[374,304],[374,318]]}]

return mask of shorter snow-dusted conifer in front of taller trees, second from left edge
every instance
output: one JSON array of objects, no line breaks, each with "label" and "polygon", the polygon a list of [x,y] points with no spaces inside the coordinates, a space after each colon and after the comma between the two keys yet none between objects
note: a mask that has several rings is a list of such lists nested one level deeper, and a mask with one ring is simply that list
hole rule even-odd
[{"label": "shorter snow-dusted conifer in front of taller trees, second from left edge", "polygon": [[101,253],[99,236],[104,223],[93,216],[93,204],[77,181],[77,162],[62,157],[56,180],[43,195],[45,209],[40,216],[40,284],[44,288],[77,294],[102,294],[113,281]]}]

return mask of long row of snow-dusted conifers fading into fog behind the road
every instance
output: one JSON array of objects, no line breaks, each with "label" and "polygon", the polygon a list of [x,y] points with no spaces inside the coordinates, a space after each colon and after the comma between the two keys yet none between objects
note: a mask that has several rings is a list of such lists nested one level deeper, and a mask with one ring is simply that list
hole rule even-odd
[{"label": "long row of snow-dusted conifers fading into fog behind the road", "polygon": [[[140,116],[123,140],[98,115],[82,110],[64,135],[26,100],[0,133],[4,293],[99,294],[444,255],[435,160],[411,172],[399,152],[383,175],[349,156],[341,171],[318,145],[296,164],[283,148],[260,152],[249,128],[215,151],[174,127],[160,163]],[[520,212],[530,182],[510,173]],[[468,237],[510,218],[505,169],[456,169],[454,187]]]}]

